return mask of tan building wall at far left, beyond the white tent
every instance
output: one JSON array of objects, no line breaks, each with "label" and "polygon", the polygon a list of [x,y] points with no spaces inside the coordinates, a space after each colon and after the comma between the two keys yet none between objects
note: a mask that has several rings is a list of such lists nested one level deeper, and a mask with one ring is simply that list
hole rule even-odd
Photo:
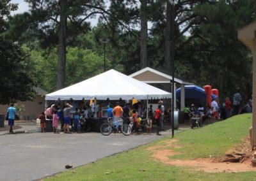
[{"label": "tan building wall at far left, beyond the white tent", "polygon": [[[21,120],[36,120],[38,115],[45,110],[45,97],[38,95],[34,101],[18,101],[17,104],[25,106],[24,112],[21,113]],[[0,114],[6,115],[9,106],[0,105]]]}]

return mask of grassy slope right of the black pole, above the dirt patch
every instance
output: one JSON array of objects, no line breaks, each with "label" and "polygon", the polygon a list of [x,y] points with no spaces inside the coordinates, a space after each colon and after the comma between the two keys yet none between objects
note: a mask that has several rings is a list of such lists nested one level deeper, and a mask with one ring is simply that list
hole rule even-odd
[{"label": "grassy slope right of the black pole, above the dirt patch", "polygon": [[230,119],[216,122],[203,129],[189,129],[175,136],[179,138],[182,148],[175,149],[181,154],[179,159],[196,157],[220,157],[232,146],[241,143],[248,136],[252,125],[252,114],[239,115]]}]

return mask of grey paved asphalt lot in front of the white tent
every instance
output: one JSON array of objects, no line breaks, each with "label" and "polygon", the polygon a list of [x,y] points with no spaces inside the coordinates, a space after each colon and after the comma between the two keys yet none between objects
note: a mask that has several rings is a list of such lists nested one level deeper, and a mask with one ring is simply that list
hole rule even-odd
[{"label": "grey paved asphalt lot in front of the white tent", "polygon": [[[53,134],[35,133],[36,123],[20,122],[15,130],[0,133],[0,180],[35,180],[74,167],[91,163],[102,157],[123,152],[163,136],[131,135],[116,133]],[[28,133],[24,133],[24,132]],[[161,132],[163,135],[171,131]]]}]

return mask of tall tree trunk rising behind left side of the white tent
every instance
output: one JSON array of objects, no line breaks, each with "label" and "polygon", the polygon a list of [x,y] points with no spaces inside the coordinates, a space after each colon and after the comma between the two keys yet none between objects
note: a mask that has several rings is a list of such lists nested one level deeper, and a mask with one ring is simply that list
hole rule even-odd
[{"label": "tall tree trunk rising behind left side of the white tent", "polygon": [[67,0],[60,0],[60,27],[58,34],[58,78],[57,89],[65,87],[65,71],[66,71],[66,33],[67,33],[67,15],[65,9]]}]

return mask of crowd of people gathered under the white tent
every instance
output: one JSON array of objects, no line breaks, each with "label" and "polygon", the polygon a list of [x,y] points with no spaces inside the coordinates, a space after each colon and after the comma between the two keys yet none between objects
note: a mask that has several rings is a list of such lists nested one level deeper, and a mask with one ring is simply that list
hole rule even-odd
[{"label": "crowd of people gathered under the white tent", "polygon": [[[131,105],[130,103],[124,103],[120,105],[119,102],[115,106],[111,103],[106,103],[104,107],[107,107],[107,117],[124,119],[125,124],[133,122],[132,132],[134,134],[140,134],[140,131],[150,134],[152,131],[152,124],[157,125],[157,135],[159,131],[164,130],[164,105],[163,101],[159,101],[159,105],[156,110],[152,110],[152,105],[148,108],[148,119],[147,110],[143,107],[143,103],[138,101]],[[90,103],[84,104],[82,107],[76,107],[75,111],[72,111],[74,108],[70,103],[65,103],[64,108],[60,103],[56,102],[52,104],[49,108],[42,112],[38,119],[40,119],[41,132],[46,132],[46,120],[52,120],[52,129],[53,133],[58,133],[58,122],[60,122],[60,131],[64,133],[70,132],[70,125],[72,126],[72,132],[81,133],[84,131],[84,122],[88,119],[95,119],[95,115],[98,118],[102,117],[101,109],[103,103],[100,102],[99,105],[96,105],[96,101],[92,100]],[[105,117],[106,118],[106,117]],[[84,122],[83,122],[84,121]]]}]

